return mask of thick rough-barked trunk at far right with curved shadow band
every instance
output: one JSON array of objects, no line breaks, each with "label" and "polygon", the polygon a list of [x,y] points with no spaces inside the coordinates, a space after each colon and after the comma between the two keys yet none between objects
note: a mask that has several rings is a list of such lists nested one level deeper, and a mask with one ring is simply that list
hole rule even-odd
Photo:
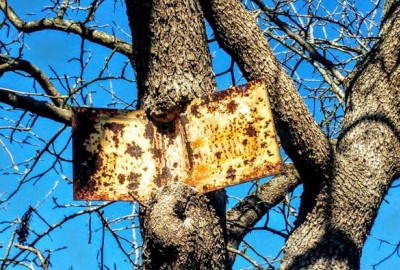
[{"label": "thick rough-barked trunk at far right with curved shadow band", "polygon": [[378,208],[399,177],[399,1],[387,9],[380,38],[348,83],[331,180],[287,241],[282,269],[359,269]]}]

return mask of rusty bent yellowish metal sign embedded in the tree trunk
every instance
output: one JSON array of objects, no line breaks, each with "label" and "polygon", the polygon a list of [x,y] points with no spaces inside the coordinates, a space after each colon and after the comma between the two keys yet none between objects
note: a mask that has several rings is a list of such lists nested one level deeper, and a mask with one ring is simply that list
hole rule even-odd
[{"label": "rusty bent yellowish metal sign embedded in the tree trunk", "polygon": [[72,132],[76,200],[145,201],[171,181],[205,193],[283,170],[261,80],[197,98],[167,126],[74,108]]}]

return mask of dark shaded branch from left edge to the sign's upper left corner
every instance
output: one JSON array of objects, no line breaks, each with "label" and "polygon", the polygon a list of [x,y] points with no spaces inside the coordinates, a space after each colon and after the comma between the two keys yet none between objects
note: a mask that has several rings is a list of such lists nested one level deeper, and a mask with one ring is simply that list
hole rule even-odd
[{"label": "dark shaded branch from left edge to the sign's upper left corner", "polygon": [[49,118],[60,123],[71,125],[70,110],[61,109],[51,103],[39,101],[29,96],[22,96],[1,87],[0,102],[30,111],[39,116]]}]

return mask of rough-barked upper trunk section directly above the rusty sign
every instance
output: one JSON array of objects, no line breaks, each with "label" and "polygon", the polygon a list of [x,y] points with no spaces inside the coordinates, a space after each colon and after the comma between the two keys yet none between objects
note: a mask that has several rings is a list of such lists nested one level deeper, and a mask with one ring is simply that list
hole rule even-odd
[{"label": "rough-barked upper trunk section directly above the rusty sign", "polygon": [[198,1],[126,1],[139,107],[159,122],[216,89]]}]

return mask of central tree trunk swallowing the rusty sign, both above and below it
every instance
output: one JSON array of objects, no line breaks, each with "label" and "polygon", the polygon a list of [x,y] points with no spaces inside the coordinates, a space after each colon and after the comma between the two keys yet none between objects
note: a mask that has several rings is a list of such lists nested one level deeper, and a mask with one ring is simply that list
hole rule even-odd
[{"label": "central tree trunk swallowing the rusty sign, both above and below it", "polygon": [[[197,0],[127,0],[139,107],[168,130],[195,97],[216,90]],[[141,211],[144,269],[224,269],[225,193],[184,184],[158,190]]]}]

